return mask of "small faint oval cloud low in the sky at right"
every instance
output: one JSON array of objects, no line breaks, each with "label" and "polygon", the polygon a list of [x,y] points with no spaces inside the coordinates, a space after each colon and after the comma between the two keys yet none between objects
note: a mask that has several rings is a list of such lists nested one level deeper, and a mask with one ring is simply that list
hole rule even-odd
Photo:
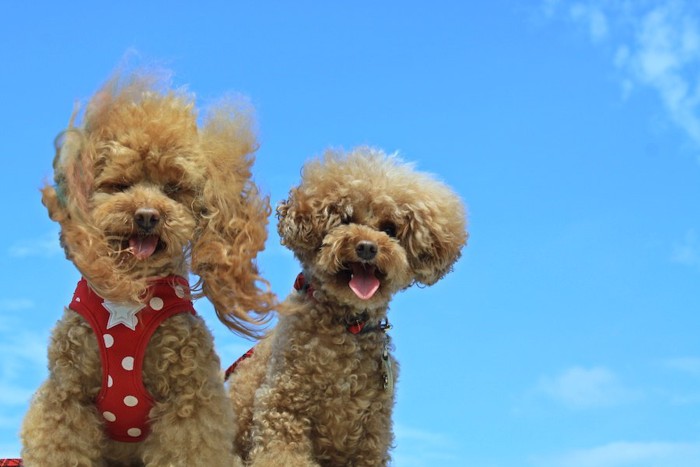
[{"label": "small faint oval cloud low in the sky at right", "polygon": [[603,367],[572,367],[540,379],[538,392],[574,409],[607,407],[627,403],[636,395],[625,389],[617,375]]}]

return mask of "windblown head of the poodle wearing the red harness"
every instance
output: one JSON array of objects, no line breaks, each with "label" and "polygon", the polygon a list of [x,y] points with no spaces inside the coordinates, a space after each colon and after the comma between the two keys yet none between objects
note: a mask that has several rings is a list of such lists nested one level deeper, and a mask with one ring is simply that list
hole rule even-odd
[{"label": "windblown head of the poodle wearing the red harness", "polygon": [[250,180],[250,118],[226,104],[199,127],[192,99],[159,86],[138,74],[109,81],[57,139],[42,201],[103,297],[143,300],[150,278],[191,271],[219,318],[250,334],[249,311],[274,302],[255,265],[270,209]]}]

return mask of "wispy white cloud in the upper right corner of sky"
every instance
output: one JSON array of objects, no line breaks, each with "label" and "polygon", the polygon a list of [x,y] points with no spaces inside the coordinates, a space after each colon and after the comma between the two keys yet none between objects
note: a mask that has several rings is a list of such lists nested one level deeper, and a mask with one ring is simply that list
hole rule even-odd
[{"label": "wispy white cloud in the upper right corner of sky", "polygon": [[[562,1],[543,0],[556,18]],[[656,92],[668,118],[700,146],[700,11],[684,0],[606,2],[569,6],[566,19],[587,28],[594,44],[614,51],[625,98],[636,87]]]}]

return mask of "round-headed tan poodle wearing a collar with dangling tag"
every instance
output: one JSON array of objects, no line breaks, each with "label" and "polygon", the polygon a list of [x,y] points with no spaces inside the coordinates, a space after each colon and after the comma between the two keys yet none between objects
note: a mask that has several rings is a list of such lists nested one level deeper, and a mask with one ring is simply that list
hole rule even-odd
[{"label": "round-headed tan poodle wearing a collar with dangling tag", "polygon": [[236,450],[253,466],[386,465],[389,302],[451,270],[464,206],[441,182],[359,148],[307,164],[277,216],[303,273],[276,328],[232,373]]}]

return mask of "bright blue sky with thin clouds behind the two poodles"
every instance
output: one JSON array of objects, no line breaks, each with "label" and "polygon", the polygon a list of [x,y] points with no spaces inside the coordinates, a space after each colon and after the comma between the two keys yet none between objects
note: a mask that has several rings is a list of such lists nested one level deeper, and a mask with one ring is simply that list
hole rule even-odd
[{"label": "bright blue sky with thin clouds behind the two poodles", "polygon": [[[79,275],[41,205],[53,139],[127,55],[257,111],[273,204],[370,144],[464,199],[454,272],[392,303],[398,467],[700,466],[693,1],[4,2],[0,457]],[[298,265],[271,219],[259,266]],[[251,343],[199,311],[226,364]]]}]

